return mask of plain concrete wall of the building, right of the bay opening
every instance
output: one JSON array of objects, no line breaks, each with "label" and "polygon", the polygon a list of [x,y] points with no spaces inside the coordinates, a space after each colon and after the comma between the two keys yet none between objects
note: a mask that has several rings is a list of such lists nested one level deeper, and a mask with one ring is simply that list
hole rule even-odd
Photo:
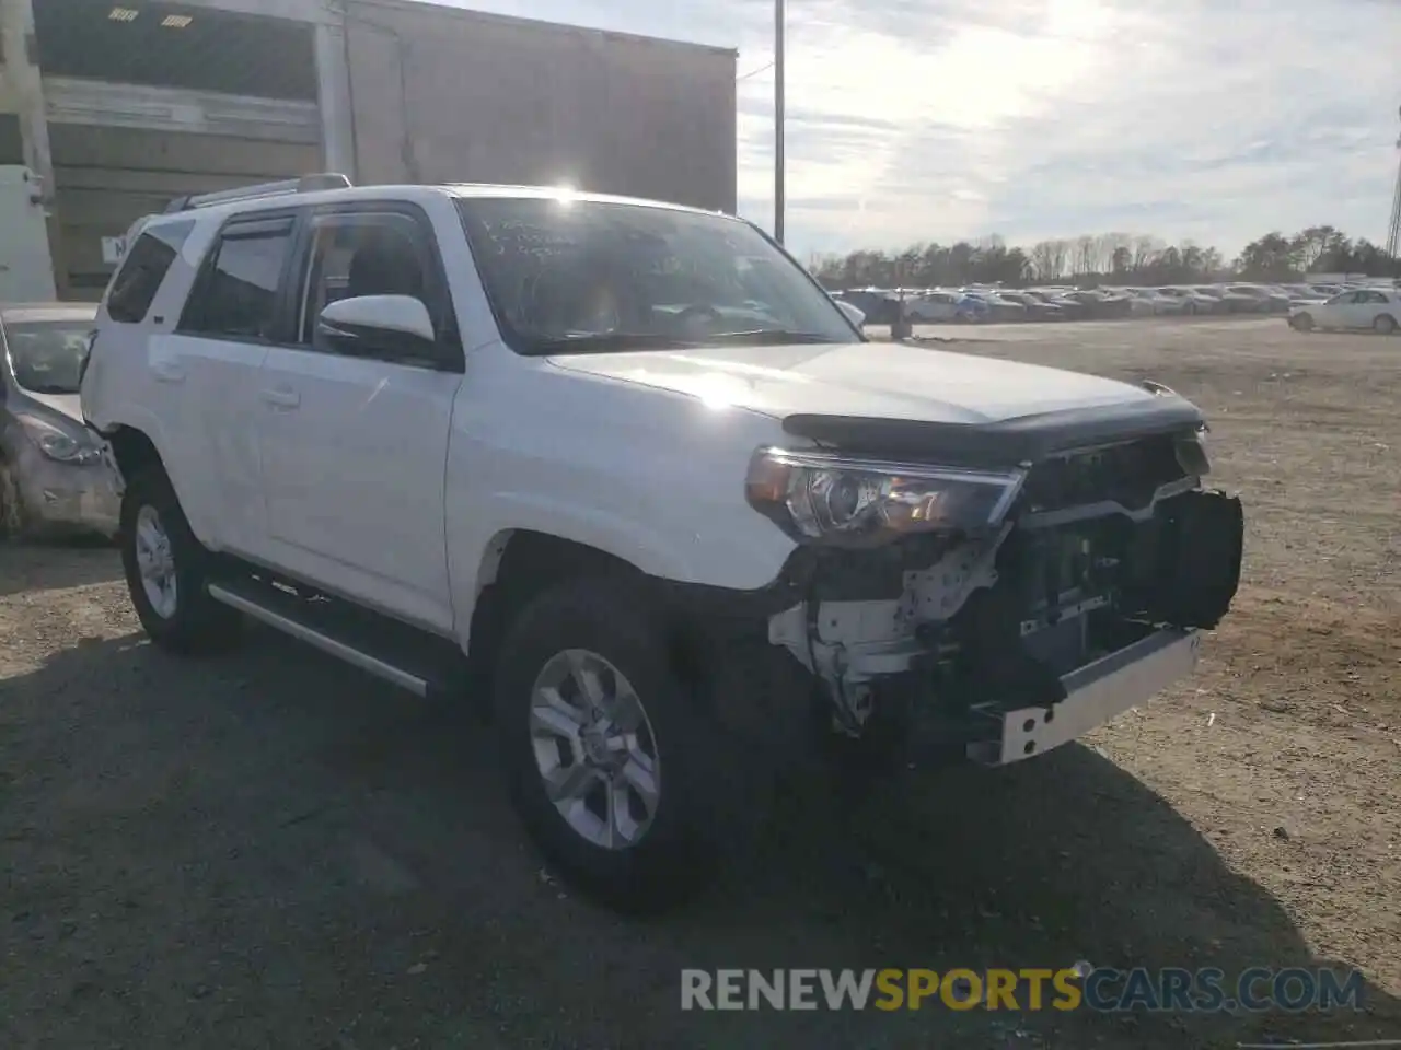
[{"label": "plain concrete wall of the building, right of the bay opening", "polygon": [[346,8],[361,183],[569,182],[734,210],[734,52],[426,3]]}]

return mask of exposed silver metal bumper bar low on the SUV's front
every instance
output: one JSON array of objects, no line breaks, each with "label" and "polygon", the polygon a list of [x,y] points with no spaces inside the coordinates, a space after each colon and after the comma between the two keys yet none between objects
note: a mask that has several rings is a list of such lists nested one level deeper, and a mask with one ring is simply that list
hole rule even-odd
[{"label": "exposed silver metal bumper bar low on the SUV's front", "polygon": [[1199,648],[1194,630],[1159,630],[1063,675],[1065,699],[1049,707],[974,707],[974,718],[993,722],[993,736],[969,743],[968,757],[1007,766],[1069,743],[1191,675]]}]

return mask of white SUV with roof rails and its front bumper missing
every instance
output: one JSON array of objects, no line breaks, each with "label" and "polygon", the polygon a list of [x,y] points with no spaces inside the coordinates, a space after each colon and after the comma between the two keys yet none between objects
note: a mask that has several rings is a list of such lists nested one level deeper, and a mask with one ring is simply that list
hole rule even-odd
[{"label": "white SUV with roof rails and its front bumper missing", "polygon": [[867,342],[733,217],[311,176],[132,232],[83,410],[151,640],[249,616],[492,696],[525,825],[621,906],[695,885],[737,756],[1041,755],[1236,592],[1191,403]]}]

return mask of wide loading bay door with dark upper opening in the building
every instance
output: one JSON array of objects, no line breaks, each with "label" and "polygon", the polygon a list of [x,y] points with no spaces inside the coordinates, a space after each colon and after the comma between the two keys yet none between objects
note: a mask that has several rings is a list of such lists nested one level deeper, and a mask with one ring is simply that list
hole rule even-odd
[{"label": "wide loading bay door with dark upper opening in the building", "polygon": [[111,238],[172,197],[322,167],[308,25],[142,0],[42,0],[35,28],[55,265],[74,298],[101,294]]}]

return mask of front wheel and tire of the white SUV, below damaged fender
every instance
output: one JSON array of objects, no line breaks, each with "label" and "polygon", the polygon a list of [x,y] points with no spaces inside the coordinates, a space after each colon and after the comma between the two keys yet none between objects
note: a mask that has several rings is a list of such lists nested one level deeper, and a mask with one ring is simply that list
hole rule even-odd
[{"label": "front wheel and tire of the white SUV, below damaged fender", "polygon": [[710,795],[726,763],[628,578],[566,581],[521,613],[497,666],[496,725],[517,813],[581,892],[653,911],[713,869]]}]

